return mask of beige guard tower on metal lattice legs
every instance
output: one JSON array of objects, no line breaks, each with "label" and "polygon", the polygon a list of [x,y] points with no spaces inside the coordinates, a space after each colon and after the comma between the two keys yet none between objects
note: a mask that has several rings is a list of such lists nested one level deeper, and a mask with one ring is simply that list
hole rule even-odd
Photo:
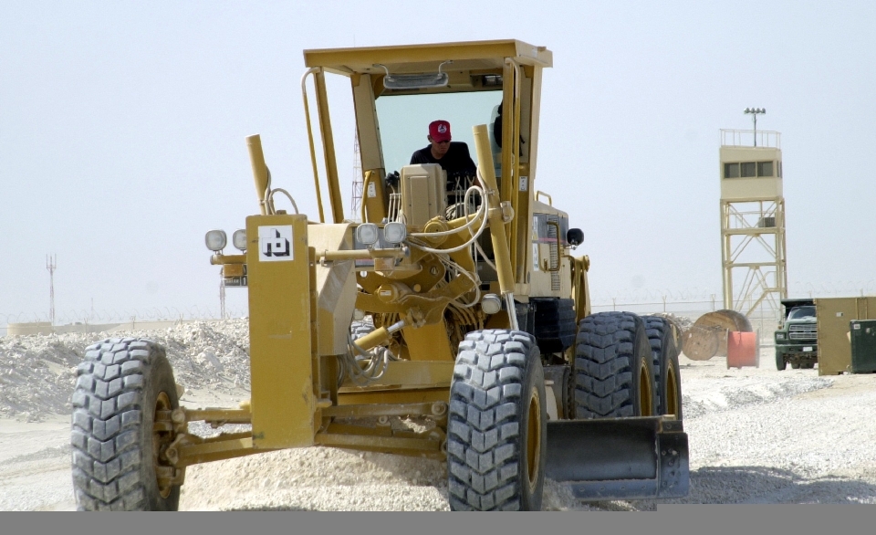
[{"label": "beige guard tower on metal lattice legs", "polygon": [[777,318],[787,298],[781,134],[722,130],[720,160],[724,307]]}]

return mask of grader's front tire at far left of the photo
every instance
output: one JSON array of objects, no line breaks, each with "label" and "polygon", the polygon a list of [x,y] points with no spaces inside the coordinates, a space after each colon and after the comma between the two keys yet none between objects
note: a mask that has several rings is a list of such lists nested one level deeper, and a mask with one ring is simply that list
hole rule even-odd
[{"label": "grader's front tire at far left of the photo", "polygon": [[[89,346],[73,392],[73,489],[79,510],[177,510],[180,486],[162,460],[172,431],[156,411],[179,407],[173,371],[159,344],[134,338]],[[165,474],[159,480],[159,471]]]}]

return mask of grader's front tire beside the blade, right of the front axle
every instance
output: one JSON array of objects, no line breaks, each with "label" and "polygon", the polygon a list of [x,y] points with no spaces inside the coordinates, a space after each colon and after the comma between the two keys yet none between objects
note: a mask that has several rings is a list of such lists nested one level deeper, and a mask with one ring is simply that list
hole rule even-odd
[{"label": "grader's front tire beside the blade, right of the front axle", "polygon": [[541,509],[546,401],[544,370],[531,335],[519,330],[466,335],[450,387],[451,509]]}]

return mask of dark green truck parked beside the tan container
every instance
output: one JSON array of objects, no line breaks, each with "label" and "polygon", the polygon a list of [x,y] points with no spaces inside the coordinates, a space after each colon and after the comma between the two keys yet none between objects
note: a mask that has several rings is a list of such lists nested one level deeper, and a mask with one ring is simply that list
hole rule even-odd
[{"label": "dark green truck parked beside the tan container", "polygon": [[814,368],[819,362],[818,319],[813,299],[782,299],[785,315],[773,333],[776,368]]}]

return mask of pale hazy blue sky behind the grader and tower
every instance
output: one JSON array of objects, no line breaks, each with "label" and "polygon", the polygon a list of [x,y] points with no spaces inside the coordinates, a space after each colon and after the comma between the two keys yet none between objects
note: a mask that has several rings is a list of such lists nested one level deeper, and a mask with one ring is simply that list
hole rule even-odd
[{"label": "pale hazy blue sky behind the grader and tower", "polygon": [[594,299],[720,295],[719,130],[746,107],[782,132],[790,293],[876,292],[874,27],[871,0],[0,0],[0,327],[47,318],[50,253],[59,319],[217,311],[203,234],[256,212],[245,136],[317,213],[303,49],[496,38],[554,53],[537,188],[584,230]]}]

